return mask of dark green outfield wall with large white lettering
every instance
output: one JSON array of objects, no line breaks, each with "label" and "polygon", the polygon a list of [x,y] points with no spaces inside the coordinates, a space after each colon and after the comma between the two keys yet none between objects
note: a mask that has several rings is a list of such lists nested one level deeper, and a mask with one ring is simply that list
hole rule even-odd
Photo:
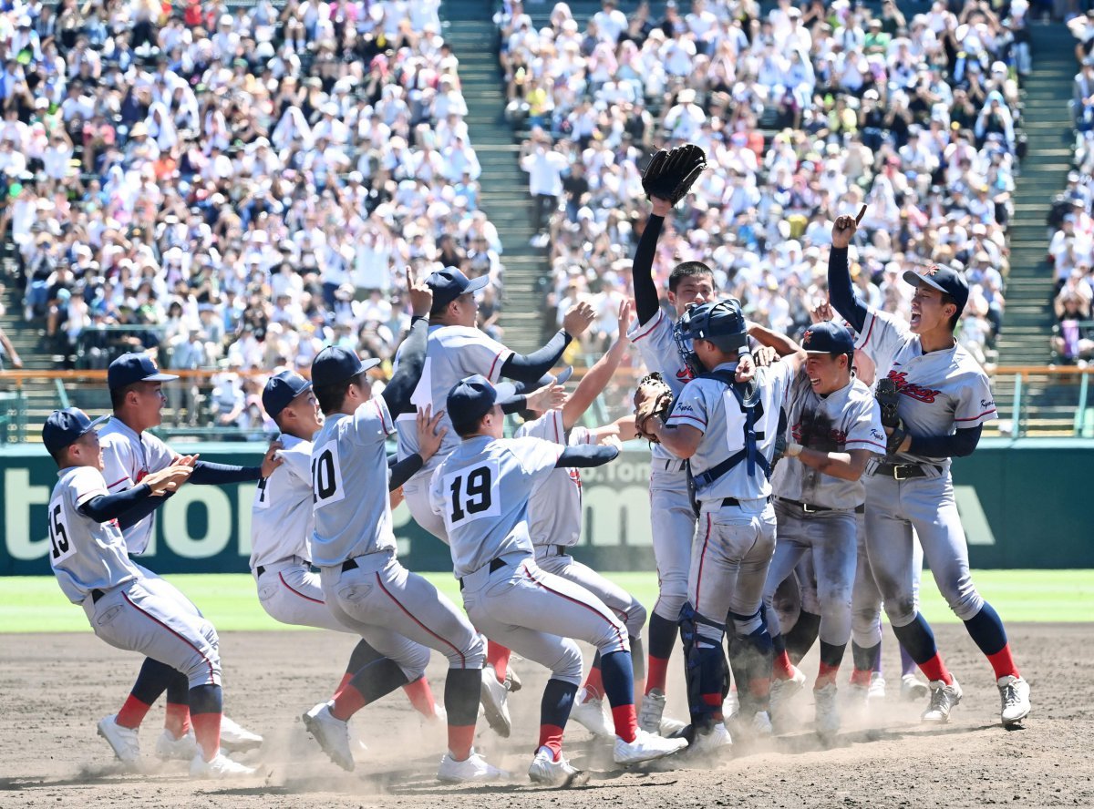
[{"label": "dark green outfield wall with large white lettering", "polygon": [[[178,444],[210,461],[258,464],[253,444]],[[629,446],[582,472],[584,535],[577,556],[605,571],[652,570],[649,452]],[[1094,441],[986,439],[954,464],[974,567],[1094,567]],[[57,469],[39,445],[0,449],[0,575],[48,574],[46,505]],[[186,485],[158,512],[141,561],[158,573],[246,572],[254,484]],[[446,546],[395,512],[399,555],[419,571],[451,570]]]}]

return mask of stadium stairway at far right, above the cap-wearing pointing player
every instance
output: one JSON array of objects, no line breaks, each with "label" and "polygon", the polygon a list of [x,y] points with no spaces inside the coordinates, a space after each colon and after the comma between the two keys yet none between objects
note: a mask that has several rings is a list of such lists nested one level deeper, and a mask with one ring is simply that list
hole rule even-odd
[{"label": "stadium stairway at far right, above the cap-wearing pointing player", "polygon": [[[1068,99],[1078,66],[1074,40],[1060,23],[1031,27],[1034,73],[1023,84],[1022,130],[1027,152],[1014,194],[1010,227],[1011,271],[1006,310],[997,348],[999,364],[1044,365],[1051,359],[1052,268],[1046,261],[1051,233],[1046,224],[1052,197],[1067,186],[1074,136]],[[996,403],[1004,422],[1013,412],[1014,377],[993,383]],[[1022,390],[1022,413],[1028,433],[1069,434],[1074,426],[1076,389],[1068,377],[1032,377]]]}]

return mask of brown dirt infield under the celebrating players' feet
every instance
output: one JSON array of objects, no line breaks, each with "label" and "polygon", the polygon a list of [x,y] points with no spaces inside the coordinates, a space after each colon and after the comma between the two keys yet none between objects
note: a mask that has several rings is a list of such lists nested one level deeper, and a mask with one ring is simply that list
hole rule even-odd
[{"label": "brown dirt infield under the celebrating players' feet", "polygon": [[[160,706],[141,732],[148,772],[125,773],[95,722],[118,708],[138,658],[71,635],[0,636],[0,807],[594,807],[627,809],[715,806],[980,807],[1094,805],[1094,676],[1089,666],[1092,624],[1011,626],[1011,640],[1033,685],[1034,713],[1025,729],[998,725],[999,697],[990,669],[959,626],[939,640],[965,700],[943,728],[916,720],[921,706],[900,703],[896,646],[886,633],[889,697],[884,715],[845,722],[834,749],[806,730],[764,748],[738,744],[719,766],[620,772],[605,748],[573,727],[569,755],[593,775],[581,789],[531,787],[525,770],[536,737],[545,675],[519,664],[524,690],[512,699],[513,738],[502,741],[480,723],[478,746],[514,772],[511,784],[442,788],[432,781],[443,752],[443,728],[424,726],[401,694],[365,708],[352,726],[369,750],[345,773],[306,737],[300,714],[325,697],[353,645],[350,636],[309,633],[229,633],[221,638],[225,710],[266,736],[251,754],[264,777],[231,784],[193,782],[185,764],[158,767],[152,749]],[[850,659],[848,658],[848,665]],[[806,670],[815,671],[815,659]],[[676,669],[678,667],[674,667]],[[430,680],[441,696],[439,656]],[[679,672],[670,712],[683,716]],[[803,718],[812,700],[798,697]],[[246,760],[246,759],[244,759]]]}]

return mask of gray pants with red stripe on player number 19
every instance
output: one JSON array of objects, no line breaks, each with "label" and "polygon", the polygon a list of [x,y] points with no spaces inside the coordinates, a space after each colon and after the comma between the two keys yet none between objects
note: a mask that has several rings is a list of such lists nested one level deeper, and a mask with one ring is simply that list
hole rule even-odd
[{"label": "gray pants with red stripe on player number 19", "polygon": [[551,677],[581,684],[581,649],[571,638],[594,645],[601,655],[630,653],[627,628],[596,596],[547,573],[532,556],[463,578],[464,609],[491,641],[546,666]]}]

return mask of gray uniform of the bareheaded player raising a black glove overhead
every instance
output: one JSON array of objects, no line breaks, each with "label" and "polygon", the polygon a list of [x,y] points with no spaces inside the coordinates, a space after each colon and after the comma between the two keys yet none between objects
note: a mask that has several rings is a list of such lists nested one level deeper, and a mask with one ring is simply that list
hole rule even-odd
[{"label": "gray uniform of the bareheaded player raising a black glove overhead", "polygon": [[[680,357],[673,324],[664,310],[659,309],[649,323],[632,327],[629,337],[645,367],[661,372],[673,394],[679,396],[691,372]],[[687,600],[696,517],[688,496],[687,462],[660,444],[653,445],[650,460],[650,519],[660,590],[653,611],[675,623]]]}]

